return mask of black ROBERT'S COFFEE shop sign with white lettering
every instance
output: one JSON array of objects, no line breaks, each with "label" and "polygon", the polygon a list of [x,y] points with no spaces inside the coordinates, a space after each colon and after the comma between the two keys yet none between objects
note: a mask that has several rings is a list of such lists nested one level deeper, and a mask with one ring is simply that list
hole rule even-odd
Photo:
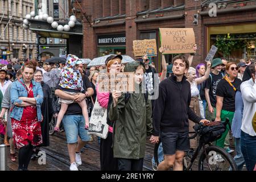
[{"label": "black ROBERT'S COFFEE shop sign with white lettering", "polygon": [[125,46],[125,34],[98,35],[98,46]]}]

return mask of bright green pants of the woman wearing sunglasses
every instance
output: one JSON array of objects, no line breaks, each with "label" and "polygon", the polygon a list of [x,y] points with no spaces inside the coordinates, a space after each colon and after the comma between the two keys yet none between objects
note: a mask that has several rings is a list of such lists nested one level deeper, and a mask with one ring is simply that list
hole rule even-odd
[{"label": "bright green pants of the woman wearing sunglasses", "polygon": [[[225,121],[226,118],[229,118],[229,123],[231,126],[233,117],[234,117],[234,112],[227,111],[227,110],[221,110],[221,121]],[[230,130],[229,125],[226,125],[226,131],[221,135],[220,139],[216,140],[216,146],[224,148],[225,138],[226,138],[226,135],[229,133],[229,130]]]}]

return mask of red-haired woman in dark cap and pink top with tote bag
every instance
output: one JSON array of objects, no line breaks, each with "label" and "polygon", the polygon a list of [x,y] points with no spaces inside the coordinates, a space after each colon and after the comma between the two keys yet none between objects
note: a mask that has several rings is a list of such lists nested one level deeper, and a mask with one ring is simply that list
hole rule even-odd
[{"label": "red-haired woman in dark cap and pink top with tote bag", "polygon": [[[106,71],[119,73],[121,71],[121,60],[123,57],[121,55],[111,55],[106,61]],[[96,86],[98,104],[105,109],[108,109],[108,105],[112,102],[112,95],[109,92],[100,92],[98,85]],[[116,171],[117,159],[113,156],[113,122],[107,118],[107,123],[109,125],[109,133],[106,139],[101,138],[100,144],[100,160],[101,160],[101,170],[102,171]]]}]

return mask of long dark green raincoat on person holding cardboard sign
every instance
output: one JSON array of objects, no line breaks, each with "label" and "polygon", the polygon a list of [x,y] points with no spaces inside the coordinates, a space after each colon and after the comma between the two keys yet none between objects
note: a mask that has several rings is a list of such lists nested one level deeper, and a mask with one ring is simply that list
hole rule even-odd
[{"label": "long dark green raincoat on person holding cardboard sign", "polygon": [[114,121],[114,158],[144,158],[146,137],[152,133],[152,106],[143,93],[131,93],[125,104],[125,94],[117,106],[110,105],[109,119]]}]

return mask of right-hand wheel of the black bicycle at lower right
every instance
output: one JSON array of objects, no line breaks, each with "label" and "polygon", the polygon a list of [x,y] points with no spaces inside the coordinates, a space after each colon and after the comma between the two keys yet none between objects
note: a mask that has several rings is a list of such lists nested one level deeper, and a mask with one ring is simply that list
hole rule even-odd
[{"label": "right-hand wheel of the black bicycle at lower right", "polygon": [[218,146],[209,146],[206,149],[207,156],[203,151],[199,158],[199,171],[237,171],[237,165],[232,155]]}]

